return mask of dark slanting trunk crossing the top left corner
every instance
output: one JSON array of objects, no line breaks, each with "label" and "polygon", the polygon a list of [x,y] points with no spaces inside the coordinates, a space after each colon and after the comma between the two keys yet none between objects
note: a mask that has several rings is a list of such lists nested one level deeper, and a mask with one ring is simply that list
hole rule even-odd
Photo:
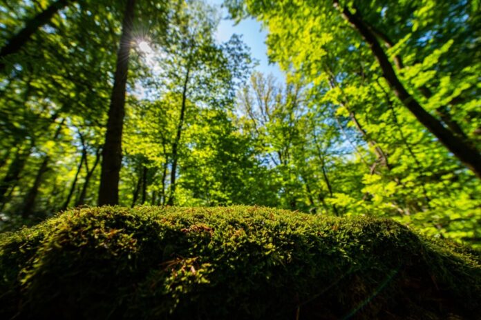
[{"label": "dark slanting trunk crossing the top left corner", "polygon": [[25,46],[25,44],[30,40],[33,34],[39,30],[42,26],[49,23],[53,16],[62,8],[67,6],[68,0],[57,0],[50,4],[44,11],[39,12],[35,17],[26,21],[25,26],[10,39],[6,41],[5,46],[0,49],[0,72],[3,72],[6,68],[6,63],[4,58],[8,54],[15,54]]}]

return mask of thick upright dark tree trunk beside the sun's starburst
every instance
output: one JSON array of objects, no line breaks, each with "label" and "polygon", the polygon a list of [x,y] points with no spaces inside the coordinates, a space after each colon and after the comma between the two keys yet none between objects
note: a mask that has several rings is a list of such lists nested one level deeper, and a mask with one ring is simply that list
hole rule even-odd
[{"label": "thick upright dark tree trunk beside the sun's starburst", "polygon": [[98,205],[116,205],[119,203],[119,179],[122,168],[122,130],[125,115],[125,93],[129,57],[133,41],[132,28],[135,0],[127,0],[122,22],[122,37],[117,52],[117,66],[112,89],[109,120],[102,151],[102,172]]}]

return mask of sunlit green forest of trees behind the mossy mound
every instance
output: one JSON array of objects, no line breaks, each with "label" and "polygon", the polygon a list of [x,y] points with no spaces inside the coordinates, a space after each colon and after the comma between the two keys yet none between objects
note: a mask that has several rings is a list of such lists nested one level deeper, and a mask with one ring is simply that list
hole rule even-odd
[{"label": "sunlit green forest of trees behind the mossy mound", "polygon": [[479,248],[479,1],[315,2],[223,4],[261,21],[276,79],[204,1],[1,1],[1,229],[244,204]]}]

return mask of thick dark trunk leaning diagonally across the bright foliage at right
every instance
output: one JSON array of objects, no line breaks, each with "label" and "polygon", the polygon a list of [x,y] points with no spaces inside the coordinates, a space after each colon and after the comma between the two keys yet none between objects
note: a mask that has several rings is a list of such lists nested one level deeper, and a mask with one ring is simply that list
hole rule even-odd
[{"label": "thick dark trunk leaning diagonally across the bright foliage at right", "polygon": [[464,139],[453,134],[446,129],[440,121],[437,121],[430,113],[426,112],[419,102],[404,88],[403,84],[397,78],[396,72],[391,65],[386,52],[377,41],[375,34],[366,27],[366,24],[359,16],[359,13],[352,14],[347,8],[341,8],[339,0],[334,0],[334,6],[338,8],[344,19],[348,21],[353,28],[355,28],[364,40],[369,44],[372,53],[381,66],[384,77],[389,83],[389,86],[394,91],[399,100],[404,106],[411,111],[411,113],[421,122],[437,139],[444,144],[444,146],[452,152],[464,165],[472,170],[478,178],[481,179],[481,155],[474,147],[466,143]]}]

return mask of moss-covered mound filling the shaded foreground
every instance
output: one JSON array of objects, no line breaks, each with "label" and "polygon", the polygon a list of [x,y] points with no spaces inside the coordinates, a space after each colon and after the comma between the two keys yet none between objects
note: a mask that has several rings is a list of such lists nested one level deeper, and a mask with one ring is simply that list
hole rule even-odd
[{"label": "moss-covered mound filling the shaded foreground", "polygon": [[388,219],[71,210],[0,238],[0,319],[473,319],[480,256]]}]

